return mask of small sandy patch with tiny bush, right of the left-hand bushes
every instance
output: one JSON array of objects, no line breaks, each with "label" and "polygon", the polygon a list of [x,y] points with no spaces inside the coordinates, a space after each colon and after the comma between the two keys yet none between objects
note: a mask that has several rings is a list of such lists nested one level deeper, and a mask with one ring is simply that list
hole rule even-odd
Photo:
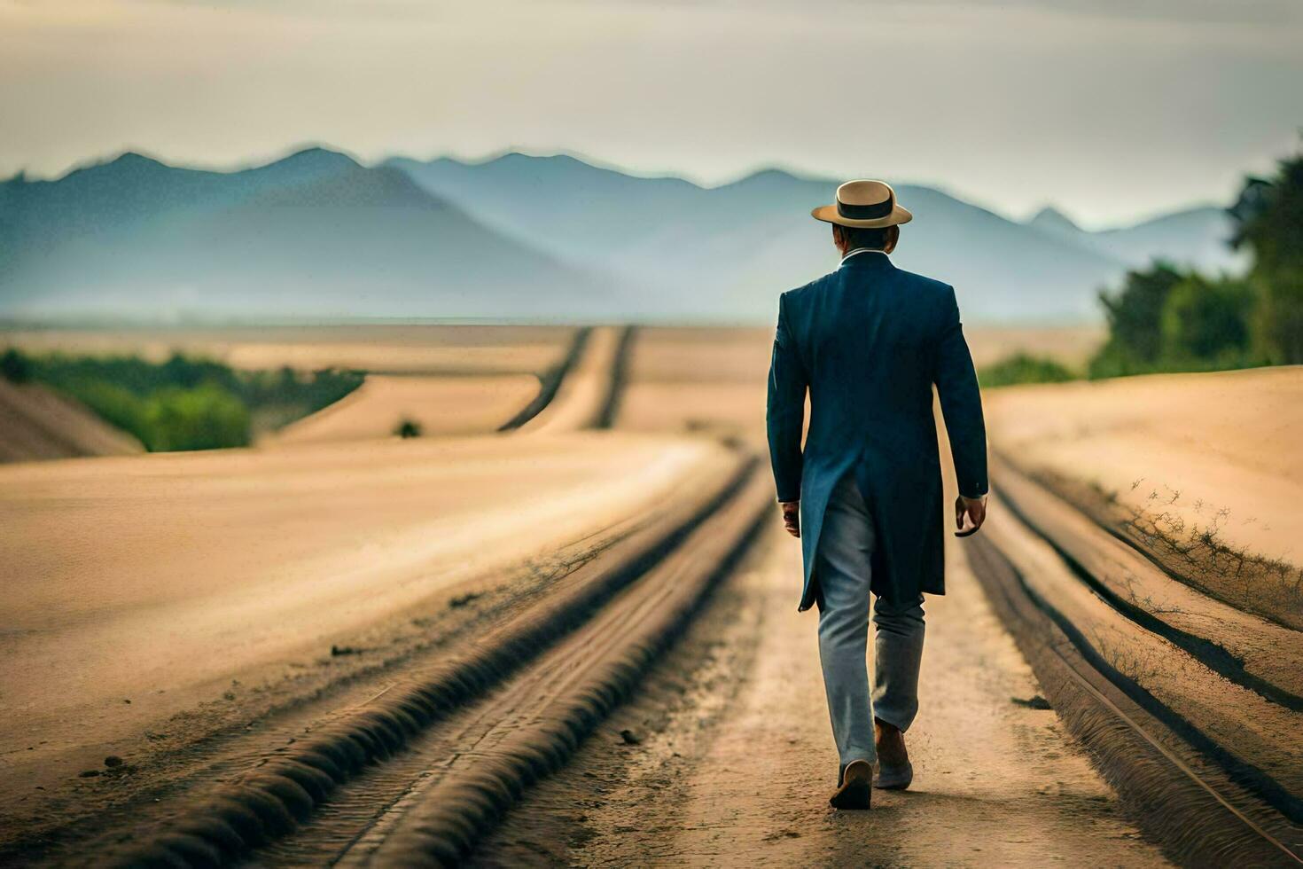
[{"label": "small sandy patch with tiny bush, right of the left-hand bushes", "polygon": [[356,391],[267,438],[267,446],[390,438],[410,420],[422,436],[496,431],[538,395],[533,374],[369,374]]}]

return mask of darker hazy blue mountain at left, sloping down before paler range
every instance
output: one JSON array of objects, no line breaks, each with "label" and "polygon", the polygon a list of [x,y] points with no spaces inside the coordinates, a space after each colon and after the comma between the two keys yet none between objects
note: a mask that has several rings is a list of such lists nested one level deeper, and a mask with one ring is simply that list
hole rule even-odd
[{"label": "darker hazy blue mountain at left, sloping down before paler range", "polygon": [[228,173],[124,154],[0,184],[0,315],[549,318],[609,301],[400,169],[321,149]]}]

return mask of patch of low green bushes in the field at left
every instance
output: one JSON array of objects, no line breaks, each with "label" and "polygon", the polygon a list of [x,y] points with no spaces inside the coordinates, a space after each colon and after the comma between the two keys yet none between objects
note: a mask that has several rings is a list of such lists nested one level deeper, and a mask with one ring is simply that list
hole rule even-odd
[{"label": "patch of low green bushes in the field at left", "polygon": [[63,393],[151,452],[248,446],[261,431],[314,413],[362,383],[360,371],[237,371],[182,353],[150,362],[16,348],[0,354],[0,377]]}]

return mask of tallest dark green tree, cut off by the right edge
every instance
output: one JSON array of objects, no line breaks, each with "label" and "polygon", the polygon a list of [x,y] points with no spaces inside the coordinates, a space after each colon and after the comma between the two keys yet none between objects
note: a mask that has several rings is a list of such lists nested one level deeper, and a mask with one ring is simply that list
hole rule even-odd
[{"label": "tallest dark green tree, cut off by the right edge", "polygon": [[1283,159],[1272,178],[1247,178],[1230,207],[1233,244],[1253,254],[1259,296],[1253,332],[1277,363],[1303,362],[1303,154]]}]

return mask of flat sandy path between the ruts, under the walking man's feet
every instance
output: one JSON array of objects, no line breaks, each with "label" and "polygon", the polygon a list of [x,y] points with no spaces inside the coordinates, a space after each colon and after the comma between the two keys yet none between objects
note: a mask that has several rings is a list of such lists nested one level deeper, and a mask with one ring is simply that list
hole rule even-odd
[{"label": "flat sandy path between the ruts, under the walking man's feet", "polygon": [[950,593],[926,605],[909,791],[829,809],[816,615],[796,612],[796,546],[773,534],[477,865],[1164,865],[1054,713],[1028,705],[1035,677],[958,547],[949,558]]}]

